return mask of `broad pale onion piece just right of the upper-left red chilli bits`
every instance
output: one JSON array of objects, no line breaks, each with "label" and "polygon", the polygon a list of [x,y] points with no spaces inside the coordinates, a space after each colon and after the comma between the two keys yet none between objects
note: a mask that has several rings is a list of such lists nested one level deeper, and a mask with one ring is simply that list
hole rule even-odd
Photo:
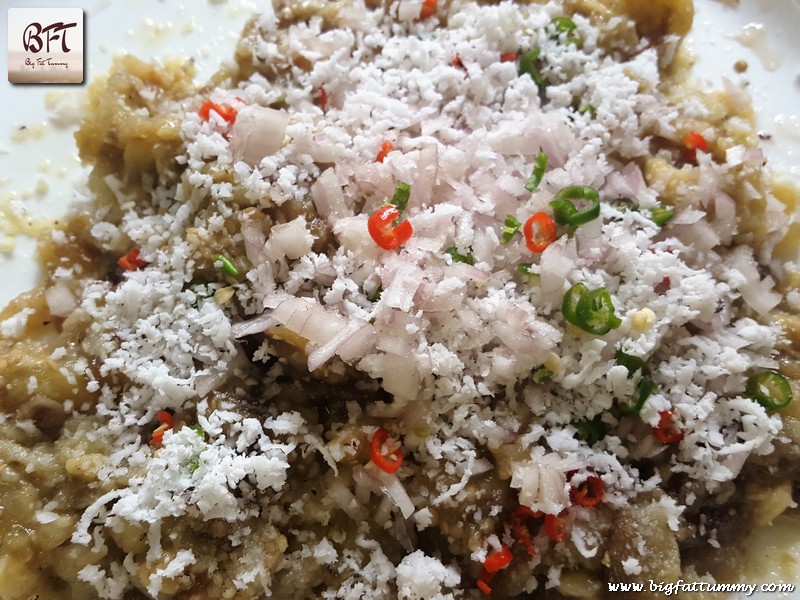
[{"label": "broad pale onion piece just right of the upper-left red chilli bits", "polygon": [[289,113],[274,108],[251,105],[239,111],[231,130],[235,160],[256,167],[261,160],[283,146]]}]

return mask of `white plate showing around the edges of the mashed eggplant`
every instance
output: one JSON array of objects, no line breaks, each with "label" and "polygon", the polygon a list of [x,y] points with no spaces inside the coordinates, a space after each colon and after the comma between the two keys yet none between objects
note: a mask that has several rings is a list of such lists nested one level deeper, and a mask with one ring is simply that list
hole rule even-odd
[{"label": "white plate showing around the edges of the mashed eggplant", "polygon": [[[743,0],[739,4],[738,0],[696,0],[697,15],[689,48],[697,57],[697,72],[709,88],[721,87],[723,76],[747,83],[758,111],[758,129],[771,136],[764,142],[764,149],[773,169],[800,182],[800,5],[796,2]],[[0,51],[7,47],[6,9],[25,4],[21,0],[15,4],[4,2]],[[257,10],[257,3],[250,0],[35,3],[37,7],[65,4],[86,11],[88,80],[105,72],[114,54],[127,51],[145,59],[193,57],[198,80],[202,81],[221,61],[230,59],[242,25]],[[734,70],[737,60],[748,63],[744,74]],[[63,211],[75,197],[74,185],[83,175],[72,140],[74,126],[53,122],[45,109],[46,96],[57,93],[61,94],[59,101],[75,103],[84,88],[12,86],[7,81],[0,84],[0,199],[11,195],[33,218]],[[14,131],[23,125],[33,131],[42,129],[44,135],[12,141]],[[34,285],[38,276],[34,252],[32,240],[19,238],[13,253],[0,254],[0,305]],[[791,535],[784,548],[800,553],[800,528]],[[796,540],[794,544],[790,543],[792,539]],[[800,581],[800,573],[776,571],[762,579]],[[800,598],[800,593],[791,597]]]}]

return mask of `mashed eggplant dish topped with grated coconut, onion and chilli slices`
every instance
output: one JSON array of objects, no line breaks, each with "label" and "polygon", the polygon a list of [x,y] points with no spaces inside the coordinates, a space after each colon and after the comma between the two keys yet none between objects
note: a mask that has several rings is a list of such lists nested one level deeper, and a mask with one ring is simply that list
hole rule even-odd
[{"label": "mashed eggplant dish topped with grated coconut, onion and chilli slices", "polygon": [[0,313],[0,598],[741,583],[800,490],[798,197],[692,3],[263,4],[209,82],[89,89]]}]

